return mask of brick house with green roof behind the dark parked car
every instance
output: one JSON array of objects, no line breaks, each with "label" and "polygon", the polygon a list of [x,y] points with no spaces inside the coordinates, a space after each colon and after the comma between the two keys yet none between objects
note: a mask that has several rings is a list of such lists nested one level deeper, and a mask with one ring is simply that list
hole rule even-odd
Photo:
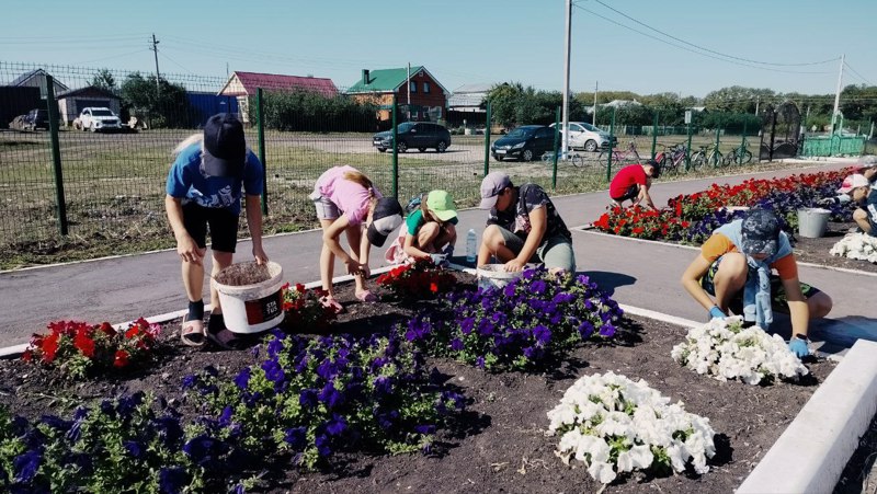
[{"label": "brick house with green roof behind the dark parked car", "polygon": [[363,69],[346,94],[378,106],[378,119],[392,118],[392,97],[409,120],[437,122],[447,117],[448,91],[422,66],[398,69]]}]

